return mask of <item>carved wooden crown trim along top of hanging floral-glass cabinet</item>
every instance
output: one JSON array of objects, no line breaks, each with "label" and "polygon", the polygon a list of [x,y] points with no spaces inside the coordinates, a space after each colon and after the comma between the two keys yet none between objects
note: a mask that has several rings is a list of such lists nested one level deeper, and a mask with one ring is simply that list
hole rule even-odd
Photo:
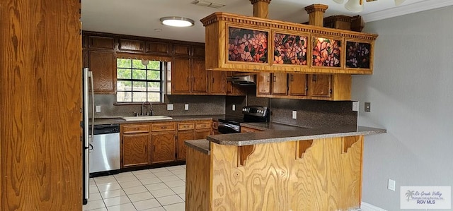
[{"label": "carved wooden crown trim along top of hanging floral-glass cabinet", "polygon": [[332,28],[323,28],[316,25],[304,25],[300,23],[290,23],[280,20],[269,20],[265,18],[256,18],[251,16],[241,16],[231,13],[222,13],[216,12],[212,13],[210,16],[202,18],[200,20],[203,25],[211,25],[219,21],[227,21],[229,23],[240,23],[248,25],[258,25],[260,27],[266,28],[277,28],[279,30],[292,30],[298,32],[309,32],[316,33],[319,35],[327,36],[337,36],[337,37],[346,37],[346,38],[355,38],[360,40],[376,40],[377,35],[367,34],[363,32],[353,32],[349,30],[338,30]]}]

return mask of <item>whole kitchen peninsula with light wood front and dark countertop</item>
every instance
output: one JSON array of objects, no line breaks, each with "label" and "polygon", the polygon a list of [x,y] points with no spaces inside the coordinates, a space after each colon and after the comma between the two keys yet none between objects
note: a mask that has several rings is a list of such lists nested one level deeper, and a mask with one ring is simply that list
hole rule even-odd
[{"label": "whole kitchen peninsula with light wood front and dark countertop", "polygon": [[[273,123],[241,126],[267,130]],[[186,141],[186,210],[348,210],[361,202],[364,135],[338,126]]]}]

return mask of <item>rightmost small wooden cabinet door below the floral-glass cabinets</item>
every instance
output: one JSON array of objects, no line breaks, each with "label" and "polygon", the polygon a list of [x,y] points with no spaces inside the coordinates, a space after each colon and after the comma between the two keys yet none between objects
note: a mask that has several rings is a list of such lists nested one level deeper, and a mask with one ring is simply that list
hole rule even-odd
[{"label": "rightmost small wooden cabinet door below the floral-glass cabinets", "polygon": [[309,95],[311,97],[331,97],[331,75],[309,75]]}]

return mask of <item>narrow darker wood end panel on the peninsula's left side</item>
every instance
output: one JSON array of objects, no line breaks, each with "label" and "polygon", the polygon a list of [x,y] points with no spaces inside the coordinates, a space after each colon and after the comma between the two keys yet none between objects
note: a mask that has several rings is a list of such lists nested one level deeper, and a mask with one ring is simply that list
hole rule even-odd
[{"label": "narrow darker wood end panel on the peninsula's left side", "polygon": [[212,203],[210,155],[187,147],[187,157],[191,159],[185,162],[185,201],[190,203],[185,203],[185,210],[212,210],[210,209]]}]

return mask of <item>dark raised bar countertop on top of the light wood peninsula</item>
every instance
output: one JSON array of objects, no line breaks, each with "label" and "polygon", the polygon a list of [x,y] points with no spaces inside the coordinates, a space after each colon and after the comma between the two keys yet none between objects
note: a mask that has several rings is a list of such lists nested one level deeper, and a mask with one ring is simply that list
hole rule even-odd
[{"label": "dark raised bar countertop on top of the light wood peninsula", "polygon": [[[273,128],[273,123],[270,123]],[[294,126],[292,126],[294,127]],[[258,128],[259,129],[259,128]],[[291,130],[273,130],[256,133],[232,133],[210,135],[207,140],[220,145],[256,145],[262,143],[276,143],[292,140],[310,140],[319,138],[336,138],[352,135],[374,135],[386,133],[385,129],[369,128],[364,126],[333,126],[330,128],[292,128]]]}]

